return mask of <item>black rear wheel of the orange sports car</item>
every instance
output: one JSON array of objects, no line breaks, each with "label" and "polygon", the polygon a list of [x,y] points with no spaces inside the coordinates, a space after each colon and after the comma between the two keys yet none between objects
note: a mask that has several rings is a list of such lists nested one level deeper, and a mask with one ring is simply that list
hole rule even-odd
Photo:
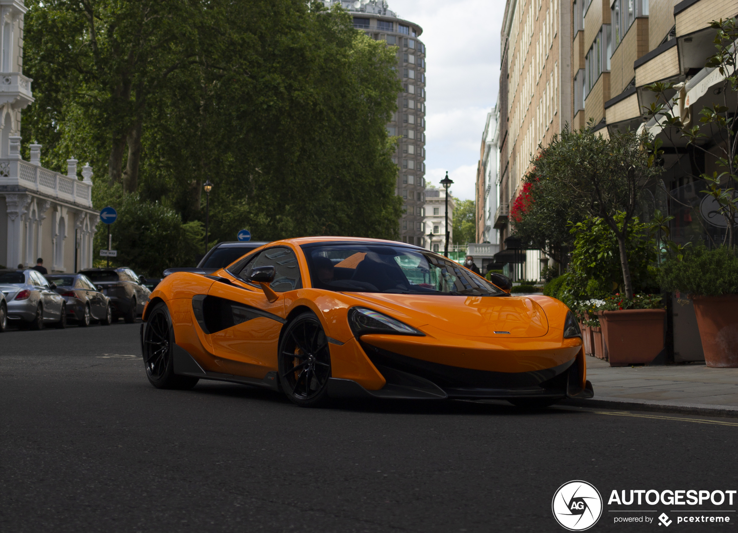
[{"label": "black rear wheel of the orange sports car", "polygon": [[198,378],[174,374],[173,346],[174,330],[169,309],[164,302],[159,302],[148,314],[143,331],[146,376],[156,388],[193,388]]}]

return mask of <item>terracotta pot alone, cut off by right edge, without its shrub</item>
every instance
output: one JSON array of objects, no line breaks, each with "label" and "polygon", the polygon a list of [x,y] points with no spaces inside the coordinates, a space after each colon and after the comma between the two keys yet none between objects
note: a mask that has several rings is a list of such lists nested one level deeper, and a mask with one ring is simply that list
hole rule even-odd
[{"label": "terracotta pot alone, cut off by right edge, without its shrub", "polygon": [[738,295],[695,296],[692,301],[705,364],[738,368]]}]

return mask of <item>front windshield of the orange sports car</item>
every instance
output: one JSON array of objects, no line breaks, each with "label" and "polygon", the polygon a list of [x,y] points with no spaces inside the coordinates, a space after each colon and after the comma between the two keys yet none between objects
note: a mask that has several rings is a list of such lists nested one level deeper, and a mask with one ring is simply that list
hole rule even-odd
[{"label": "front windshield of the orange sports car", "polygon": [[506,295],[441,255],[384,244],[303,246],[316,289],[428,295]]}]

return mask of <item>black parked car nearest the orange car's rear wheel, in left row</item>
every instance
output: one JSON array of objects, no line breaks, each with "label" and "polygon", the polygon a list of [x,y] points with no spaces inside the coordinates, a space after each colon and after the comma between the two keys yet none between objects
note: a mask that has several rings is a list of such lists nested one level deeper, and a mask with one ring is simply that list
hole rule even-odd
[{"label": "black parked car nearest the orange car's rear wheel, in left row", "polygon": [[151,295],[143,284],[143,278],[128,267],[83,269],[80,274],[86,275],[109,298],[113,320],[123,317],[126,323],[133,323],[143,312],[148,295]]}]

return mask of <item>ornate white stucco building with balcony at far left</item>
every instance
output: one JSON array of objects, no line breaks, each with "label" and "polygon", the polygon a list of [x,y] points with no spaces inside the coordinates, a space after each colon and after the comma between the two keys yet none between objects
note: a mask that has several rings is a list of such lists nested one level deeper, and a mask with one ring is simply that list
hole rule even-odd
[{"label": "ornate white stucco building with balcony at far left", "polygon": [[[92,267],[92,238],[100,219],[92,209],[92,168],[77,178],[41,168],[41,145],[21,158],[21,110],[33,103],[23,72],[23,0],[0,0],[0,264],[15,268],[44,258],[49,272]],[[76,244],[76,245],[75,245]]]}]

